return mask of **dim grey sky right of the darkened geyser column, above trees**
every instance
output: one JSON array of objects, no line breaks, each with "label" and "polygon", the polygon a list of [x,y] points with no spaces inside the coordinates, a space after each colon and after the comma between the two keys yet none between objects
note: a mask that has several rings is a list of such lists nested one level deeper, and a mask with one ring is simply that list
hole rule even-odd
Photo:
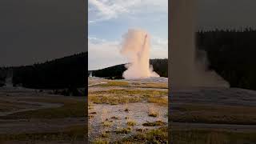
[{"label": "dim grey sky right of the darkened geyser column, above trees", "polygon": [[198,0],[198,27],[256,26],[255,0]]}]

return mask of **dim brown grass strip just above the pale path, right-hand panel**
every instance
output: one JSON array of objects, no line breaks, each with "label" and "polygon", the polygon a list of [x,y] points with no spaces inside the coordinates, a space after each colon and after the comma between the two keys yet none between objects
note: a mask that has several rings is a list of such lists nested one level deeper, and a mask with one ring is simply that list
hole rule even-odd
[{"label": "dim brown grass strip just above the pale path, right-hand panel", "polygon": [[256,108],[253,106],[190,105],[172,106],[173,122],[203,122],[222,124],[256,124]]}]

